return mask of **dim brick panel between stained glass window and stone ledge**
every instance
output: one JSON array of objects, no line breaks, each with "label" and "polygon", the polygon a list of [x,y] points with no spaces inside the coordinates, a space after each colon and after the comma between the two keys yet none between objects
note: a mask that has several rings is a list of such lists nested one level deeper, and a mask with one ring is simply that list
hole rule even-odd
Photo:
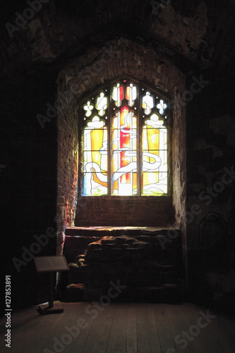
[{"label": "dim brick panel between stained glass window and stone ledge", "polygon": [[83,197],[78,199],[76,226],[164,226],[174,223],[172,201],[161,198]]}]

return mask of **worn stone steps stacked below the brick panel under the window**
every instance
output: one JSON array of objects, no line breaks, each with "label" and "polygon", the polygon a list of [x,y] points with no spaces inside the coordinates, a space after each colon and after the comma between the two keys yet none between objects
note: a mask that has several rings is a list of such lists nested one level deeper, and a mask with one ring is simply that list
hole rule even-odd
[{"label": "worn stone steps stacked below the brick panel under the window", "polygon": [[62,292],[68,285],[83,284],[83,300],[99,300],[110,282],[120,282],[126,290],[118,300],[179,300],[177,282],[183,279],[179,229],[72,227],[66,230],[64,256],[70,270],[61,275]]}]

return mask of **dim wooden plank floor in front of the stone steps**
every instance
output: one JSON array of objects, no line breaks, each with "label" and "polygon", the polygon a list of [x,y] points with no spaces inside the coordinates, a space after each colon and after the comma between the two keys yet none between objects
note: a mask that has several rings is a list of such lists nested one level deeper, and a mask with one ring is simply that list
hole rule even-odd
[{"label": "dim wooden plank floor in front of the stone steps", "polygon": [[235,321],[219,315],[205,319],[208,312],[203,307],[187,303],[103,304],[62,303],[64,313],[44,316],[37,307],[13,312],[11,349],[4,342],[6,318],[0,320],[0,352],[235,352]]}]

